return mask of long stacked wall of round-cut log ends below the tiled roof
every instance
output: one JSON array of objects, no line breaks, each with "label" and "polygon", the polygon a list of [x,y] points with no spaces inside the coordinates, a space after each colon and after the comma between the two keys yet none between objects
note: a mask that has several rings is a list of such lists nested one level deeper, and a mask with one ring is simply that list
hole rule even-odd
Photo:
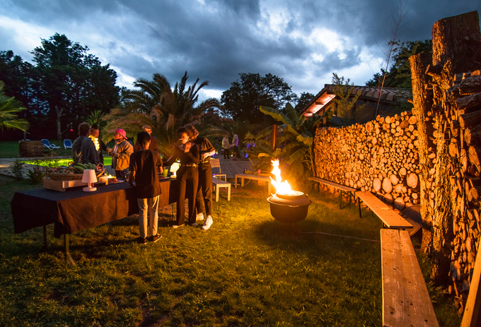
[{"label": "long stacked wall of round-cut log ends below the tiled roof", "polygon": [[419,203],[416,123],[410,112],[402,112],[366,124],[318,129],[316,176],[371,191],[399,210]]}]

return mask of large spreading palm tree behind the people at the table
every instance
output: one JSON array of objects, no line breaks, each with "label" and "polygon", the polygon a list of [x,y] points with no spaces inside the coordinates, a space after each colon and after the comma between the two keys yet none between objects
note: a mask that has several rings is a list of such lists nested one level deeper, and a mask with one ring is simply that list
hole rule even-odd
[{"label": "large spreading palm tree behind the people at the table", "polygon": [[[152,127],[152,134],[158,138],[158,144],[164,155],[170,155],[177,141],[177,131],[185,124],[194,124],[198,127],[207,126],[205,131],[221,133],[213,128],[212,124],[205,124],[216,114],[220,107],[219,100],[207,99],[195,107],[199,99],[199,90],[209,85],[204,81],[199,83],[199,78],[193,85],[187,87],[187,71],[179,83],[170,87],[166,76],[159,73],[153,74],[153,81],[138,79],[134,86],[139,90],[129,90],[125,93],[124,107],[112,109],[103,120],[108,121],[105,127],[104,141],[110,141],[113,131],[122,128],[127,136],[135,136],[141,126],[146,124]],[[197,128],[197,127],[196,127]],[[204,128],[197,128],[202,136]]]}]

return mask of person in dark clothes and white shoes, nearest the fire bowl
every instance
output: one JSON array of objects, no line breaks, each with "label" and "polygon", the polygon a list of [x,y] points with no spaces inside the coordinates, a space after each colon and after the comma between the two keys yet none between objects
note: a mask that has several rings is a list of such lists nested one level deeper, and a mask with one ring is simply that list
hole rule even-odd
[{"label": "person in dark clothes and white shoes, nearest the fire bowl", "polygon": [[208,138],[200,137],[199,132],[192,125],[185,126],[192,133],[190,141],[199,146],[199,185],[195,199],[196,220],[204,220],[202,204],[205,207],[207,219],[202,225],[202,230],[209,230],[212,225],[212,168],[210,156],[216,153],[216,149]]}]

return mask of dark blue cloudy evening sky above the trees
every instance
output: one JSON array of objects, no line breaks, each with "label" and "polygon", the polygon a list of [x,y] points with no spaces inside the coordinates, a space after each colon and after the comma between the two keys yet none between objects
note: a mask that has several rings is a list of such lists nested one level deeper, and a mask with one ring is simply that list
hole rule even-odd
[{"label": "dark blue cloudy evening sky above the trees", "polygon": [[[401,40],[431,38],[441,18],[481,12],[480,0],[403,1]],[[162,73],[209,81],[220,97],[238,73],[272,73],[318,93],[332,73],[364,85],[385,62],[397,0],[0,0],[0,50],[30,61],[55,32],[90,48],[132,88]]]}]

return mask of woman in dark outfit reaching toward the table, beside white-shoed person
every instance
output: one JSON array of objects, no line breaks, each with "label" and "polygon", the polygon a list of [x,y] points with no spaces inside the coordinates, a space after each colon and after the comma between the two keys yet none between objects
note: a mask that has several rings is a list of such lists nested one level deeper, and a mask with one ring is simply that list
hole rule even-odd
[{"label": "woman in dark outfit reaching toward the table, beside white-shoed person", "polygon": [[172,227],[178,228],[184,225],[185,198],[189,201],[188,222],[191,226],[197,226],[195,222],[195,196],[199,184],[199,146],[189,141],[192,133],[182,127],[177,131],[180,145],[175,147],[174,154],[163,166],[171,166],[175,160],[180,159],[180,168],[177,171],[179,193],[177,199],[177,222]]}]

